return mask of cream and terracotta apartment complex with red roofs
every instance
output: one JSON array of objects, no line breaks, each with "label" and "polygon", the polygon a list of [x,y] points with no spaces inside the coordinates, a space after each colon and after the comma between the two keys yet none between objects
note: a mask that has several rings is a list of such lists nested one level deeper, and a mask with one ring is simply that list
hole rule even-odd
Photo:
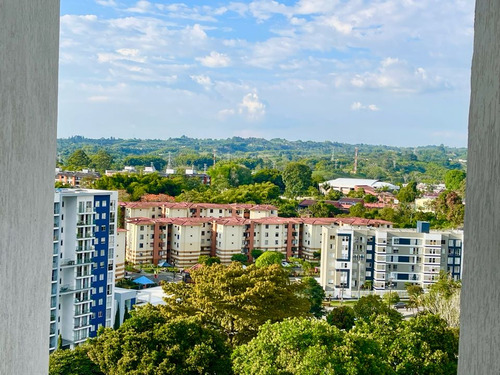
[{"label": "cream and terracotta apartment complex with red roofs", "polygon": [[361,218],[282,218],[271,205],[184,202],[164,203],[162,210],[161,218],[127,220],[128,261],[158,264],[166,260],[187,268],[200,255],[217,256],[228,264],[233,255],[250,256],[253,249],[313,259],[321,250],[324,225],[392,226],[387,221]]}]

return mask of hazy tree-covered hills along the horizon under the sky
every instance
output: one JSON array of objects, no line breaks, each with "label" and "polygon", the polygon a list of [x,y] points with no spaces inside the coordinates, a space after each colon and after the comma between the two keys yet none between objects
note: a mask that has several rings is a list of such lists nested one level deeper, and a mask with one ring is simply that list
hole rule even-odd
[{"label": "hazy tree-covered hills along the horizon under the sky", "polygon": [[[65,161],[75,150],[95,154],[104,149],[120,168],[134,158],[168,160],[174,167],[193,166],[201,170],[216,160],[233,160],[251,169],[283,169],[290,161],[308,164],[318,179],[348,176],[354,168],[358,148],[358,177],[379,178],[391,182],[414,179],[440,182],[448,169],[465,169],[466,148],[440,146],[390,147],[382,145],[351,145],[332,141],[288,141],[286,139],[241,138],[196,139],[189,137],[161,139],[91,139],[81,136],[57,140],[58,161]],[[147,156],[147,157],[146,157]],[[161,161],[161,160],[160,160]],[[149,165],[150,163],[145,164]],[[163,166],[164,163],[161,163]]]}]

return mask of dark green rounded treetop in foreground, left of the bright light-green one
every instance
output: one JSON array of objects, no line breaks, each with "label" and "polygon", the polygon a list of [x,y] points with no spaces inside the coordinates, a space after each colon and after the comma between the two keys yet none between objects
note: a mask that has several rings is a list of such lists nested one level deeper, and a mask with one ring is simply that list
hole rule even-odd
[{"label": "dark green rounded treetop in foreground, left of the bright light-green one", "polygon": [[196,318],[171,317],[148,305],[118,330],[104,329],[89,347],[105,374],[230,374],[230,349]]}]

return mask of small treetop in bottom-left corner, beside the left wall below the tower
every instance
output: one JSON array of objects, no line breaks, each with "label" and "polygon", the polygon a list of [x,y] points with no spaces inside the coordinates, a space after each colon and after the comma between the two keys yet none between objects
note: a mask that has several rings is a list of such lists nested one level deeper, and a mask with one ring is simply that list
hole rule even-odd
[{"label": "small treetop in bottom-left corner, beside the left wall below the tower", "polygon": [[56,350],[49,357],[49,375],[104,375],[99,366],[92,362],[88,345],[73,350]]}]

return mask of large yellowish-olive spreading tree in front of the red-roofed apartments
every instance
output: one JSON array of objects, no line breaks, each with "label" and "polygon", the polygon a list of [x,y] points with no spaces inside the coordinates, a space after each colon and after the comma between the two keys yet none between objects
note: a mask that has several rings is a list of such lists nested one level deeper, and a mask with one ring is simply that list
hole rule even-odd
[{"label": "large yellowish-olive spreading tree in front of the red-roofed apartments", "polygon": [[169,316],[196,316],[216,327],[232,344],[255,337],[266,321],[308,316],[310,304],[303,285],[292,283],[281,266],[243,268],[214,264],[192,272],[193,284],[163,285]]}]

